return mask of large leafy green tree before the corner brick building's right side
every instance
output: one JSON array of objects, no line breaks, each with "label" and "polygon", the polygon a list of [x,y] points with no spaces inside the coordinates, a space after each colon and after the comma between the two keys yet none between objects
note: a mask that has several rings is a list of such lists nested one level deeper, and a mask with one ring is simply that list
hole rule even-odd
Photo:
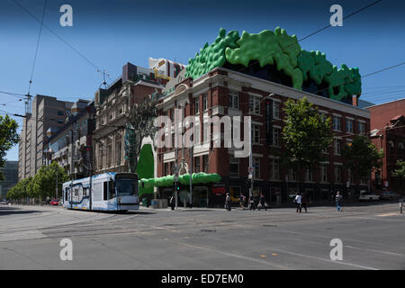
[{"label": "large leafy green tree before the corner brick building's right side", "polygon": [[302,171],[313,170],[324,159],[322,151],[332,142],[331,120],[323,118],[307,97],[289,99],[284,103],[284,112],[284,165],[296,169],[300,189]]}]

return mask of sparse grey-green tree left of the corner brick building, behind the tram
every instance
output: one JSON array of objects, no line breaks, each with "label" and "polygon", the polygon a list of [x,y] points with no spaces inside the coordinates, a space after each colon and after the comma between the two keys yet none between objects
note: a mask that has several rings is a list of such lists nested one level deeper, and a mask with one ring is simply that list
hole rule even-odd
[{"label": "sparse grey-green tree left of the corner brick building, behind the tram", "polygon": [[157,132],[157,127],[154,125],[156,117],[156,100],[152,96],[146,97],[144,101],[130,108],[127,116],[125,153],[132,173],[137,171],[142,139],[148,137],[154,139]]}]

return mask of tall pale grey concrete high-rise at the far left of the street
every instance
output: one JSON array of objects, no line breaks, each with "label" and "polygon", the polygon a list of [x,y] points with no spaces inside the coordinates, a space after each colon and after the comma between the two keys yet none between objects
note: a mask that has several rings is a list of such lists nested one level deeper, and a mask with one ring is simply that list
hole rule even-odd
[{"label": "tall pale grey concrete high-rise at the far left of the street", "polygon": [[19,180],[34,176],[45,164],[44,148],[47,146],[47,131],[65,125],[73,103],[60,101],[56,97],[37,94],[31,111],[23,118],[18,150]]}]

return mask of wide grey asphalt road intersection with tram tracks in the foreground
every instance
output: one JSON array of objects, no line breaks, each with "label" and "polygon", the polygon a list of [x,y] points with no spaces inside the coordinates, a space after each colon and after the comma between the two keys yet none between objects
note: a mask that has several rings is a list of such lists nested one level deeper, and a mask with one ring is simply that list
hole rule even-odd
[{"label": "wide grey asphalt road intersection with tram tracks in the foreground", "polygon": [[[69,238],[73,259],[59,257]],[[331,260],[339,238],[343,259]],[[0,269],[405,269],[398,203],[130,213],[0,204]]]}]

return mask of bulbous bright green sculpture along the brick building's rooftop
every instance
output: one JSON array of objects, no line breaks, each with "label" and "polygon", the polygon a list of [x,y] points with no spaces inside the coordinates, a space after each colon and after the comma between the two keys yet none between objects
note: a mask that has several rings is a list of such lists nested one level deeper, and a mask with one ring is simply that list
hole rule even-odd
[{"label": "bulbous bright green sculpture along the brick building's rooftop", "polygon": [[290,76],[293,88],[302,90],[307,80],[316,85],[328,85],[329,98],[341,101],[347,96],[361,94],[361,76],[358,68],[333,66],[324,53],[302,49],[295,35],[284,29],[264,30],[260,33],[226,31],[221,28],[217,39],[206,43],[195,58],[189,59],[185,76],[196,79],[226,62],[247,67],[250,61],[258,61],[260,67],[275,65],[278,71]]}]

